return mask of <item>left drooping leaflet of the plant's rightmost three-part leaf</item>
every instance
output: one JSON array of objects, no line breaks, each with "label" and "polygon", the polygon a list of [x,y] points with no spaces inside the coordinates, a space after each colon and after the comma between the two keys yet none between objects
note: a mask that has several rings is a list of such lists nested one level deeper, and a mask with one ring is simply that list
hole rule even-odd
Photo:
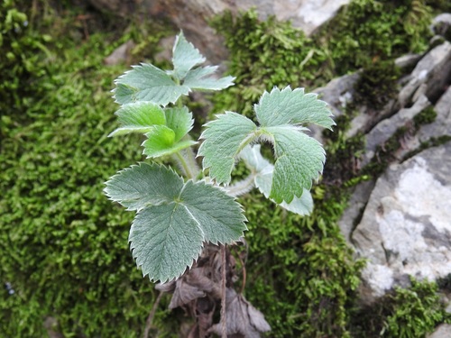
[{"label": "left drooping leaflet of the plant's rightmost three-part leaf", "polygon": [[238,153],[249,141],[257,126],[247,117],[233,112],[220,114],[215,121],[206,124],[200,138],[204,140],[198,150],[203,156],[204,169],[210,169],[210,177],[218,184],[228,184]]}]

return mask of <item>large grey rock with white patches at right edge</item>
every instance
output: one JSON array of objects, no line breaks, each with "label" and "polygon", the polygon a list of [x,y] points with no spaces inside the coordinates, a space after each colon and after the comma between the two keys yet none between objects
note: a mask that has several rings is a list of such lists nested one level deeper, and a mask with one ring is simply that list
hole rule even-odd
[{"label": "large grey rock with white patches at right edge", "polygon": [[451,142],[394,164],[379,178],[352,234],[371,302],[408,276],[451,273]]}]

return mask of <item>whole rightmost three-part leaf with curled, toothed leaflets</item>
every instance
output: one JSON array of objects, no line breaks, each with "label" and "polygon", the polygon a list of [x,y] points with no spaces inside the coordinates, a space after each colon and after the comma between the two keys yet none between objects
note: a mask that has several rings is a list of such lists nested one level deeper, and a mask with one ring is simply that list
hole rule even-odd
[{"label": "whole rightmost three-part leaf with curled, toothed leaflets", "polygon": [[315,95],[305,95],[300,88],[265,92],[254,110],[260,126],[231,112],[206,124],[199,149],[204,169],[210,169],[210,177],[217,183],[228,184],[236,156],[245,145],[272,142],[275,164],[270,198],[278,204],[290,204],[311,187],[313,179],[318,179],[326,160],[321,144],[305,134],[307,129],[299,124],[318,123],[330,128],[334,121],[326,103]]}]

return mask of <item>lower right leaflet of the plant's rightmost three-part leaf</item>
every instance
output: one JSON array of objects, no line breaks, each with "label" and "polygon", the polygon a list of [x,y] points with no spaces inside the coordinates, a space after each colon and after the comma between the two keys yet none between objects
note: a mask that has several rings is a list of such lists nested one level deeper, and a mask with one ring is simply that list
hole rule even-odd
[{"label": "lower right leaflet of the plant's rightmost three-part leaf", "polygon": [[265,128],[272,134],[276,161],[270,197],[276,203],[290,203],[309,190],[312,179],[318,179],[326,160],[321,144],[299,131],[299,127],[286,125]]}]

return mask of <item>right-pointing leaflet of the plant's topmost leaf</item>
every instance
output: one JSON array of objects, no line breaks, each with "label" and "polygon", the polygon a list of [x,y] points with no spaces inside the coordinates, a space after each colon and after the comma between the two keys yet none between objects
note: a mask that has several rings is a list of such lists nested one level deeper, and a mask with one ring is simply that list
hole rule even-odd
[{"label": "right-pointing leaflet of the plant's topmost leaf", "polygon": [[221,90],[234,85],[234,77],[215,78],[216,66],[189,70],[183,85],[201,90]]}]

